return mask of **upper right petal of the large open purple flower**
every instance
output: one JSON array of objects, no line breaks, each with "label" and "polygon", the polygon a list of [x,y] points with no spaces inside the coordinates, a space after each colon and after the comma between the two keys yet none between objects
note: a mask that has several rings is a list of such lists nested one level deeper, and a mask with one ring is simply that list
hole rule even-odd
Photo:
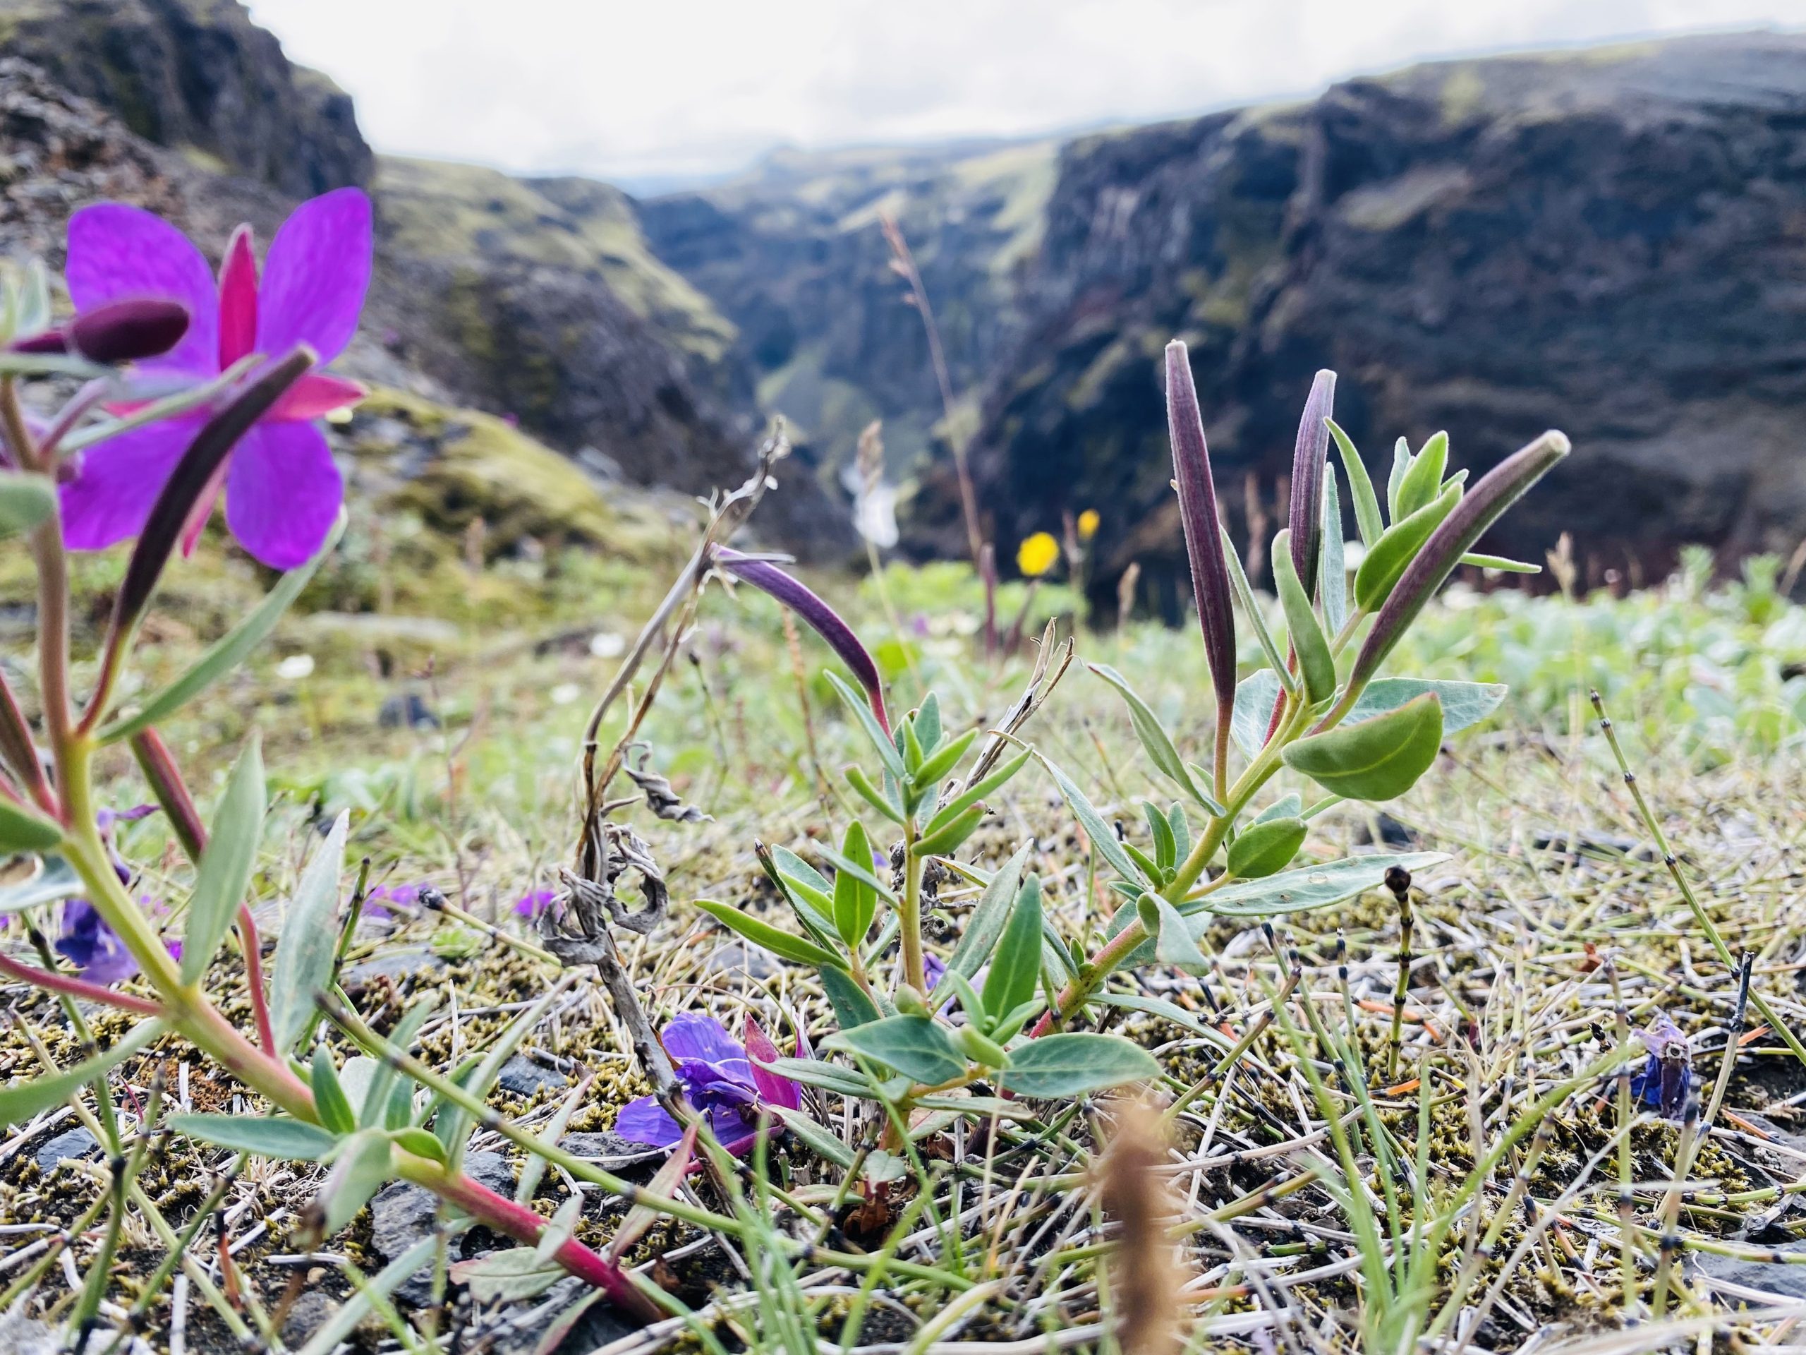
[{"label": "upper right petal of the large open purple flower", "polygon": [[307,343],[321,363],[358,332],[370,284],[370,199],[338,188],[302,202],[269,242],[256,302],[256,347],[265,354]]}]

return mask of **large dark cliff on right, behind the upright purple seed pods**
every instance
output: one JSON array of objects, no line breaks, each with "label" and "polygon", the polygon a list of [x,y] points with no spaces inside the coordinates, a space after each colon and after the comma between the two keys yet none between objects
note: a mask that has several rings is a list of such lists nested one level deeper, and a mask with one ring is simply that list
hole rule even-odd
[{"label": "large dark cliff on right, behind the upright purple seed pods", "polygon": [[[1277,110],[1076,141],[973,464],[1004,544],[1103,511],[1103,576],[1178,573],[1159,350],[1192,345],[1232,513],[1273,500],[1317,367],[1380,468],[1575,455],[1495,547],[1597,571],[1806,531],[1806,40],[1427,65]],[[943,473],[917,533],[952,540]]]}]

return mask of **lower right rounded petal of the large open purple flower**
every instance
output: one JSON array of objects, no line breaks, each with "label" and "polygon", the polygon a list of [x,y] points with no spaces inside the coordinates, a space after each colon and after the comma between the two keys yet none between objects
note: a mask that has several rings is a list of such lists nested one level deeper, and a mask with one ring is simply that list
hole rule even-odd
[{"label": "lower right rounded petal of the large open purple flower", "polygon": [[343,499],[332,450],[311,423],[260,423],[231,453],[226,526],[271,569],[312,560]]}]

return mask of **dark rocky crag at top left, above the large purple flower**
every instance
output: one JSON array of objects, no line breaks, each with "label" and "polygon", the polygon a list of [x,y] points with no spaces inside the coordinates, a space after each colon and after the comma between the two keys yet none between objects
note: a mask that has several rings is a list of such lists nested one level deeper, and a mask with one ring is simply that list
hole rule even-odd
[{"label": "dark rocky crag at top left, above the large purple flower", "polygon": [[294,197],[370,179],[350,98],[238,0],[0,0],[0,49],[146,141]]}]

